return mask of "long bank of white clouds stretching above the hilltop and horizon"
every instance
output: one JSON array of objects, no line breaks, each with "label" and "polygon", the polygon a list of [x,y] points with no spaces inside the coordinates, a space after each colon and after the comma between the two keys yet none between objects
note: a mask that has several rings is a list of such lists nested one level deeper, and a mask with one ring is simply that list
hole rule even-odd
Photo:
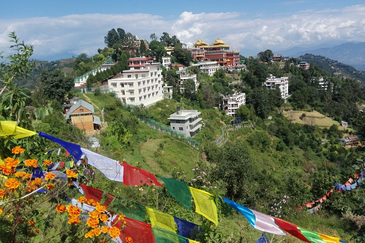
[{"label": "long bank of white clouds stretching above the hilltop and horizon", "polygon": [[[298,1],[297,3],[302,3]],[[342,9],[306,10],[287,14],[249,18],[237,12],[183,12],[177,19],[167,20],[150,14],[85,14],[58,18],[2,19],[0,21],[0,50],[9,49],[11,31],[35,47],[34,56],[58,53],[95,53],[104,47],[104,36],[112,28],[149,39],[166,31],[176,34],[182,42],[194,43],[201,37],[207,43],[221,37],[232,48],[249,50],[284,50],[299,45],[332,41],[363,41],[365,37],[365,6]],[[247,51],[248,50],[248,51]],[[255,53],[242,53],[252,55]]]}]

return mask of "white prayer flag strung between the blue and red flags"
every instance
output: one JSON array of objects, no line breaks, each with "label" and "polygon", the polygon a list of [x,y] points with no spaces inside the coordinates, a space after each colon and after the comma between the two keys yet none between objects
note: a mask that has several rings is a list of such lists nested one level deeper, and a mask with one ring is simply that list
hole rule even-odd
[{"label": "white prayer flag strung between the blue and red flags", "polygon": [[98,169],[106,178],[123,182],[123,167],[117,160],[105,157],[86,148],[81,151],[88,159],[88,164]]}]

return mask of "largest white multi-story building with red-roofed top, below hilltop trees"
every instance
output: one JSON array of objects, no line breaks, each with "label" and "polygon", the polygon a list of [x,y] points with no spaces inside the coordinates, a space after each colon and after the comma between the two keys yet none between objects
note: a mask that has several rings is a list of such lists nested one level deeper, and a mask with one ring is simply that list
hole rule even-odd
[{"label": "largest white multi-story building with red-roofed top, below hilltop trees", "polygon": [[130,58],[129,70],[121,77],[109,79],[109,91],[127,105],[149,106],[163,99],[162,69],[160,63],[154,63],[153,58]]}]

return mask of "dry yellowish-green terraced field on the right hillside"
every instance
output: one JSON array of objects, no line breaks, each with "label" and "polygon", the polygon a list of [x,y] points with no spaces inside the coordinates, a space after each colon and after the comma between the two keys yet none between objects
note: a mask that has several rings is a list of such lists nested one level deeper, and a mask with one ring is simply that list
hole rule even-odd
[{"label": "dry yellowish-green terraced field on the right hillside", "polygon": [[[306,114],[302,117],[302,114]],[[318,126],[320,128],[330,128],[332,125],[336,125],[339,130],[345,130],[340,123],[336,120],[325,116],[318,111],[302,111],[302,110],[289,110],[283,111],[283,115],[292,123],[299,123],[302,125]]]}]

